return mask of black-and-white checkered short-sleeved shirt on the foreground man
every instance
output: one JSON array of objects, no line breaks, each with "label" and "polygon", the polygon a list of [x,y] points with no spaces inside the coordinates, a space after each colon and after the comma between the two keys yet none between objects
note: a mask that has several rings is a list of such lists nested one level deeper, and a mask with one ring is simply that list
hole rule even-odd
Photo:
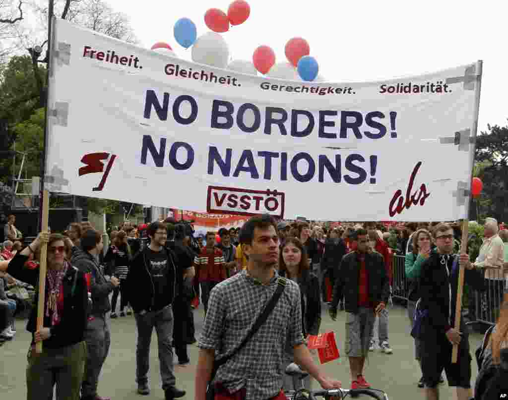
[{"label": "black-and-white checkered short-sleeved shirt on the foreground man", "polygon": [[[275,293],[278,277],[275,272],[270,283],[262,285],[241,271],[215,286],[198,347],[214,349],[216,359],[236,349]],[[256,335],[219,368],[214,383],[221,382],[231,393],[245,387],[249,400],[277,395],[282,387],[282,357],[288,341],[292,346],[305,343],[300,288],[291,280]]]}]

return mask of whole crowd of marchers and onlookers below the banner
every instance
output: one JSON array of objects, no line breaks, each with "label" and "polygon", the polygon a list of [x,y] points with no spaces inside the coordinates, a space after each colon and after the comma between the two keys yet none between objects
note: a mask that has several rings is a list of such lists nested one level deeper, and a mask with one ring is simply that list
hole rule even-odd
[{"label": "whole crowd of marchers and onlookers below the banner", "polygon": [[[485,272],[506,267],[503,242],[508,242],[508,231],[499,231],[492,218],[486,220],[484,244],[475,260],[458,255],[460,225],[437,222],[406,223],[397,234],[375,222],[330,227],[309,221],[276,222],[265,215],[252,217],[241,229],[221,228],[195,238],[192,226],[172,218],[138,227],[125,221],[110,232],[107,249],[102,232],[89,222],[72,223],[63,235],[40,234],[23,247],[14,222],[9,217],[8,240],[0,252],[3,342],[14,338],[14,317],[23,304],[37,304],[40,248],[43,243],[48,246],[44,328],[36,328],[36,307],[27,323],[33,334],[28,399],[51,398],[55,384],[58,399],[104,399],[98,387],[111,344],[109,318],[132,314],[139,394],[150,393],[153,329],[166,399],[185,395],[177,388],[174,364],[182,368],[189,364],[187,346],[193,343],[200,349],[195,388],[200,400],[209,398],[212,389],[220,400],[283,399],[284,391],[296,389],[283,373],[294,363],[309,373],[305,388],[312,387],[310,377],[323,388],[338,387],[340,382],[323,375],[312,358],[315,350],[306,346],[309,335],[320,333],[324,307],[332,320],[339,311],[345,312],[348,386],[368,388],[364,375],[368,352],[375,343],[380,351],[393,352],[387,305],[393,255],[402,254],[409,281],[410,331],[422,372],[417,384],[425,387],[427,399],[439,398],[444,370],[449,385],[457,387],[458,399],[469,400],[467,330],[463,321],[459,330],[454,328],[458,266],[465,268],[465,282],[474,290],[482,292],[489,285],[498,289],[501,284],[504,291],[499,274]],[[28,298],[12,288],[24,289]],[[205,320],[198,341],[193,310],[201,304]],[[273,308],[263,315],[267,305]],[[479,375],[483,381],[477,382],[478,399],[487,398],[479,390],[494,390],[488,379],[502,387],[507,309],[508,305],[501,308],[483,351],[490,354],[483,357],[489,373],[482,370]],[[261,317],[264,323],[258,322]],[[41,341],[44,351],[37,355],[35,344]],[[459,346],[456,364],[450,361],[453,345]],[[215,363],[220,365],[216,371]]]}]

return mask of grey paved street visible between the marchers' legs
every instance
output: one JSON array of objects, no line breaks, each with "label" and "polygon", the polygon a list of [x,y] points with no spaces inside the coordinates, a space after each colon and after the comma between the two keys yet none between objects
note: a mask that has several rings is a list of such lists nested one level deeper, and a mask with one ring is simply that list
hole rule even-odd
[{"label": "grey paved street visible between the marchers' legs", "polygon": [[[338,319],[333,322],[326,313],[327,307],[323,307],[323,319],[321,331],[334,330],[337,338],[339,351],[344,348],[344,312],[339,312]],[[202,306],[195,311],[197,334],[201,331],[203,322]],[[20,400],[26,398],[25,389],[25,366],[26,352],[29,344],[29,335],[24,329],[25,321],[16,321],[17,335],[15,339],[0,348],[2,369],[0,371],[0,398]],[[390,309],[390,345],[393,354],[387,355],[378,351],[371,352],[366,362],[366,379],[373,388],[385,390],[390,399],[395,400],[418,400],[423,398],[423,390],[416,386],[420,379],[418,364],[414,360],[412,338],[409,336],[406,310],[400,306]],[[135,378],[135,346],[136,327],[134,317],[128,316],[111,320],[111,350],[104,365],[99,385],[99,394],[112,397],[113,399],[140,400],[163,399],[164,392],[161,389],[160,376],[158,375],[157,345],[155,334],[152,340],[150,354],[150,387],[152,392],[149,396],[140,396],[136,393]],[[480,344],[482,336],[470,335],[471,356],[474,349]],[[198,348],[189,346],[191,363],[186,368],[176,368],[177,386],[187,391],[184,398],[194,398],[194,375],[198,357]],[[176,357],[175,357],[176,359]],[[318,361],[319,362],[319,361]],[[322,367],[330,376],[342,380],[344,387],[350,385],[349,367],[347,358],[341,357],[338,361],[326,363]],[[476,362],[472,361],[472,380],[477,375]],[[317,384],[314,382],[314,388]],[[454,390],[447,384],[440,385],[441,398],[454,399]]]}]

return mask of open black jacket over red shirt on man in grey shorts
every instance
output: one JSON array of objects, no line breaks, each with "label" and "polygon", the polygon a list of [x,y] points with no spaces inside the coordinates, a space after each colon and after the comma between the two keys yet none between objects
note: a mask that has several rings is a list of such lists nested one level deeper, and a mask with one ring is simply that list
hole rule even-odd
[{"label": "open black jacket over red shirt on man in grey shorts", "polygon": [[[365,254],[365,268],[369,281],[369,301],[373,308],[390,295],[390,282],[386,274],[385,261],[379,253]],[[344,309],[348,313],[358,312],[358,282],[360,280],[360,261],[358,253],[352,251],[342,258],[340,269],[335,277],[331,308],[337,309],[339,301],[344,297]]]}]

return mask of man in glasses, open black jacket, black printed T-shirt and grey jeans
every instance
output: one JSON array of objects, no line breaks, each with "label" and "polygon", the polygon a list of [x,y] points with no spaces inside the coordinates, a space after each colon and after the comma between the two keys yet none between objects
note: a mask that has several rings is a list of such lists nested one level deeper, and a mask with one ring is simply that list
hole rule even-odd
[{"label": "man in glasses, open black jacket, black printed T-shirt and grey jeans", "polygon": [[[137,253],[131,262],[126,286],[129,302],[134,310],[138,343],[136,348],[136,381],[138,393],[150,393],[148,386],[149,353],[152,331],[157,332],[158,357],[162,388],[166,400],[185,395],[175,387],[173,371],[174,317],[172,304],[176,295],[177,265],[175,254],[165,247],[168,233],[166,224],[152,222],[147,233],[150,245]],[[194,268],[183,271],[188,278],[194,276]]]}]

